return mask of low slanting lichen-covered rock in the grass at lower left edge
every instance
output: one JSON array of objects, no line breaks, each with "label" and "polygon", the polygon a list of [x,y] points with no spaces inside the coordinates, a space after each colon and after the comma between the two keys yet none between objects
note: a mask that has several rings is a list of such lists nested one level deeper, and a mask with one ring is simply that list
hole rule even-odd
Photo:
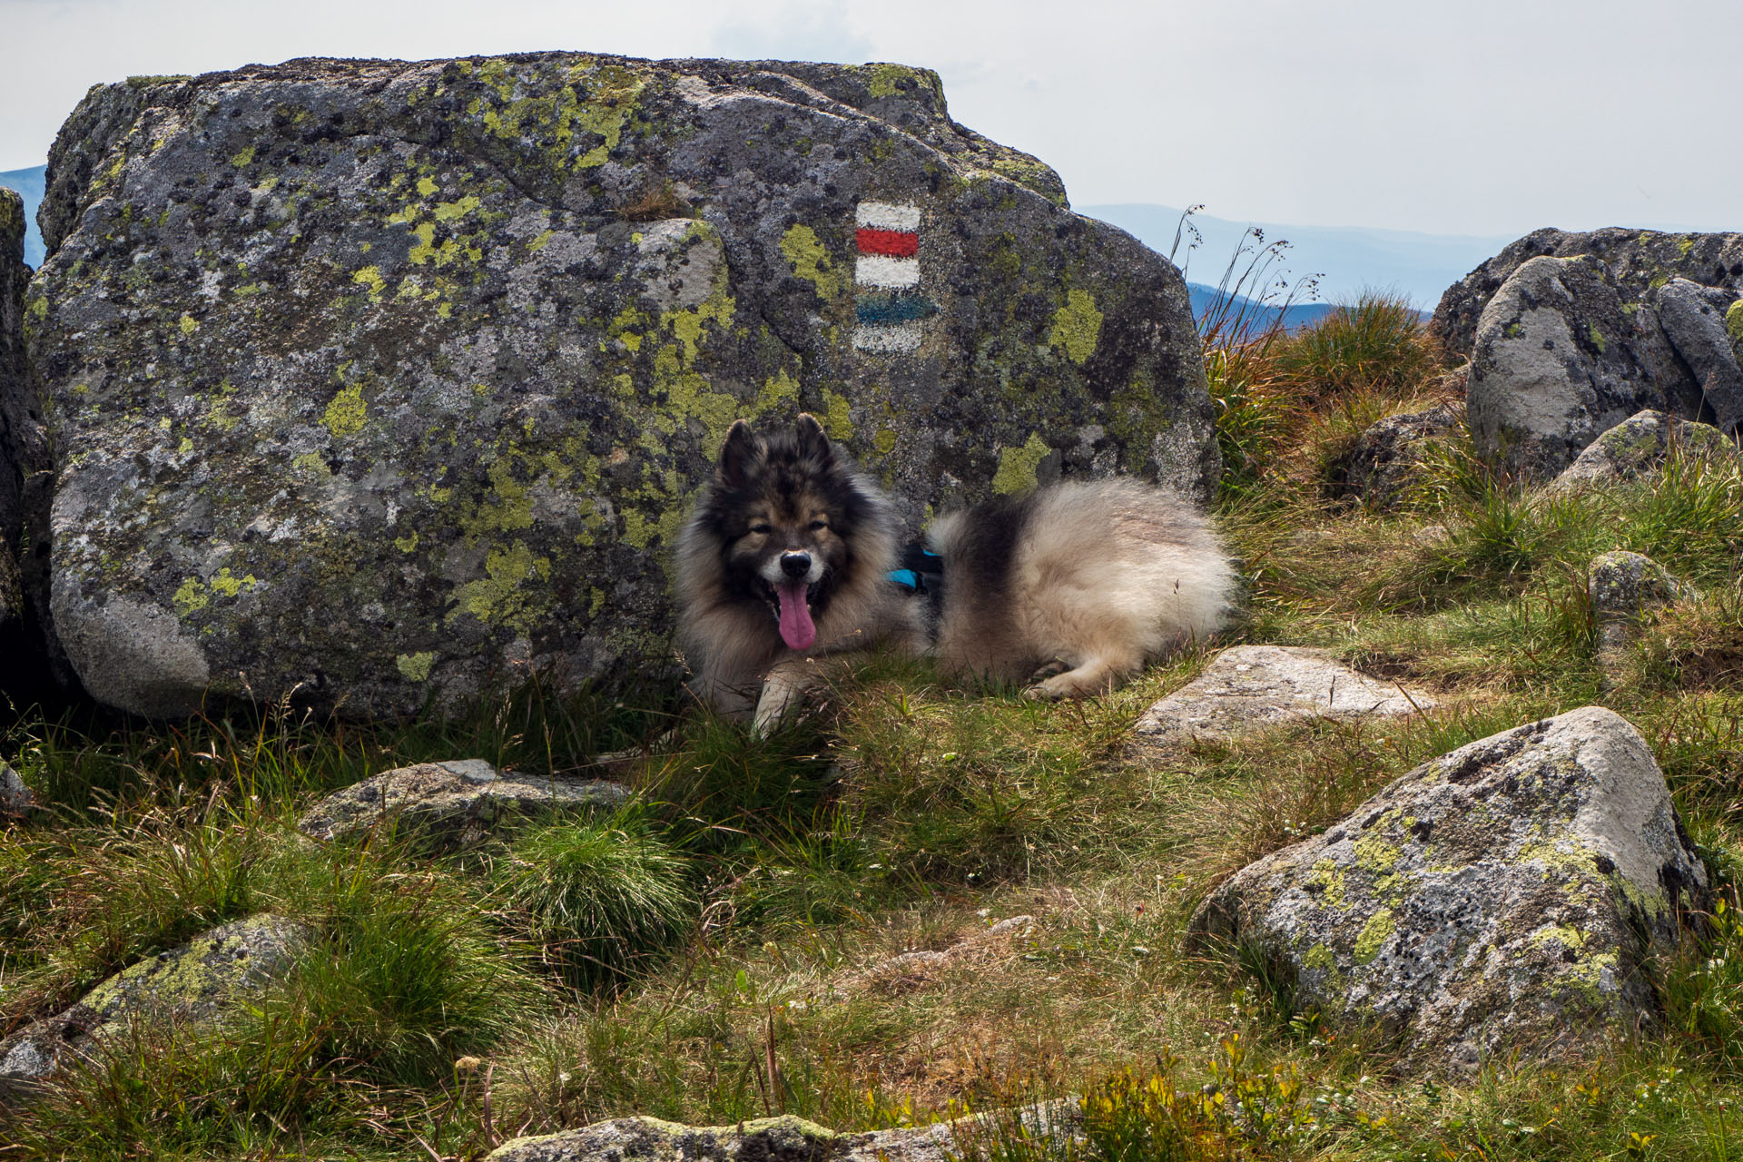
[{"label": "low slanting lichen-covered rock in the grass at lower left edge", "polygon": [[70,1056],[131,1021],[221,1017],[232,1002],[282,979],[307,939],[291,920],[251,916],[122,969],[66,1012],[0,1042],[0,1101],[28,1098]]}]

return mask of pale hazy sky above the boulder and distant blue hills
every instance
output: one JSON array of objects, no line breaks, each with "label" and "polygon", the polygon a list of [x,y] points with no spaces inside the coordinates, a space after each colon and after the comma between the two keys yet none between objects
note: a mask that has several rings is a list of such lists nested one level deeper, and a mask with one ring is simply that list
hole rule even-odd
[{"label": "pale hazy sky above the boulder and distant blue hills", "polygon": [[903,61],[1072,202],[1743,230],[1743,0],[0,0],[0,169],[84,91],[295,56]]}]

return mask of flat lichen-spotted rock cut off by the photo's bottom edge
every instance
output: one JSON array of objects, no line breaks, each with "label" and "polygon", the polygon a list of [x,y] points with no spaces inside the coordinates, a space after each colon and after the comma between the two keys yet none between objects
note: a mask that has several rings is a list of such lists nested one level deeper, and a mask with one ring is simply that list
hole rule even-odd
[{"label": "flat lichen-spotted rock cut off by the photo's bottom edge", "polygon": [[791,1115],[737,1125],[692,1127],[650,1117],[615,1118],[582,1129],[516,1138],[486,1162],[952,1162],[997,1141],[1000,1125],[1021,1125],[1060,1146],[1077,1138],[1081,1106],[1051,1101],[1006,1113],[973,1115],[908,1129],[837,1134]]}]

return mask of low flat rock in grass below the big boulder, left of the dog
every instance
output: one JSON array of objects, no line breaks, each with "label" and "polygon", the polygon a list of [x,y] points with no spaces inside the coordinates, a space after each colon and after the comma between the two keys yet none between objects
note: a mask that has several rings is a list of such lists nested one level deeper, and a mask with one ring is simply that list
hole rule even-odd
[{"label": "low flat rock in grass below the big boulder, left of the dog", "polygon": [[505,777],[469,758],[370,775],[310,807],[296,826],[317,840],[347,840],[387,822],[464,847],[511,819],[619,807],[627,796],[615,782]]}]

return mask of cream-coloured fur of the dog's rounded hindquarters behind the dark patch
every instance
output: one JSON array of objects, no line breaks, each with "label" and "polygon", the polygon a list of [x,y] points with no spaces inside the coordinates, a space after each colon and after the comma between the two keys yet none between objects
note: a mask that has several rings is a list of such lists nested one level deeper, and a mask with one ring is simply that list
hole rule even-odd
[{"label": "cream-coloured fur of the dog's rounded hindquarters behind the dark patch", "polygon": [[1234,566],[1190,502],[1110,479],[1053,484],[1030,505],[1006,592],[950,589],[973,509],[927,533],[945,559],[943,669],[1032,681],[1027,693],[1039,699],[1084,697],[1222,629]]}]

